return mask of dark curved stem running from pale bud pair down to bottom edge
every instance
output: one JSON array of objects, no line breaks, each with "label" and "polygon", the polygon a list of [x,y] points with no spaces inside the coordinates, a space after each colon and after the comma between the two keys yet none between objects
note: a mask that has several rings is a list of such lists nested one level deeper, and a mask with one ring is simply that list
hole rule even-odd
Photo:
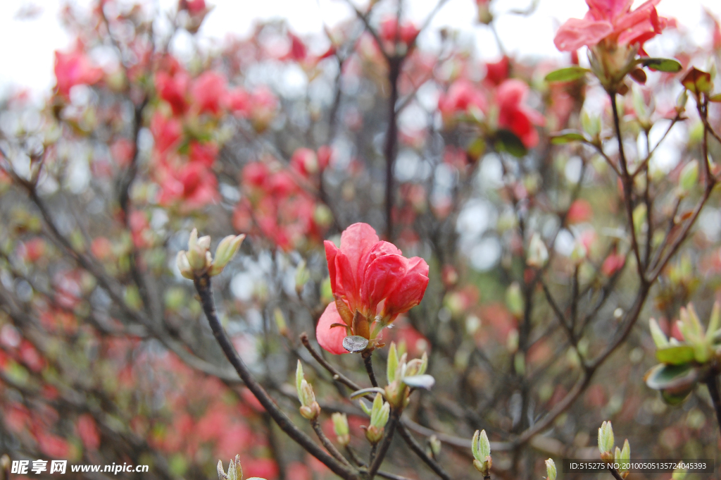
[{"label": "dark curved stem running from pale bud pair down to bottom edge", "polygon": [[193,283],[195,284],[195,289],[198,291],[198,295],[200,295],[200,304],[203,305],[203,312],[208,318],[208,323],[210,323],[213,336],[216,337],[218,345],[220,345],[226,358],[229,362],[231,362],[231,365],[233,365],[248,390],[250,390],[255,398],[260,401],[260,404],[263,408],[265,408],[265,411],[268,412],[271,418],[273,418],[275,423],[278,424],[278,427],[280,427],[283,432],[286,432],[286,435],[291,437],[294,442],[321,461],[325,466],[330,468],[330,470],[337,476],[340,476],[345,480],[360,480],[357,472],[353,471],[353,469],[349,466],[337,461],[320,448],[319,445],[311,440],[311,438],[302,432],[301,429],[298,429],[298,427],[291,422],[291,419],[289,419],[288,416],[286,416],[286,414],[284,414],[283,411],[275,405],[273,398],[270,398],[260,383],[257,383],[251,372],[248,370],[248,367],[238,355],[238,352],[235,351],[235,347],[225,333],[223,326],[221,326],[221,322],[216,313],[215,303],[213,302],[211,277],[204,274],[203,276],[195,277]]}]

